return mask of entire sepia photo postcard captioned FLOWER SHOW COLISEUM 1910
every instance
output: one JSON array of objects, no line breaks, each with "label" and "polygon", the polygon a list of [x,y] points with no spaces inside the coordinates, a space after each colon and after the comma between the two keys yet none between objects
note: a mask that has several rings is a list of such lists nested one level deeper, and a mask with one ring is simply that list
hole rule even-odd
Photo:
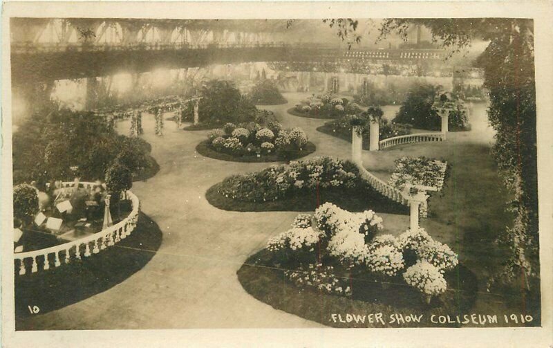
[{"label": "entire sepia photo postcard captioned FLOWER SHOW COLISEUM 1910", "polygon": [[3,15],[15,335],[550,318],[534,18],[74,13]]}]

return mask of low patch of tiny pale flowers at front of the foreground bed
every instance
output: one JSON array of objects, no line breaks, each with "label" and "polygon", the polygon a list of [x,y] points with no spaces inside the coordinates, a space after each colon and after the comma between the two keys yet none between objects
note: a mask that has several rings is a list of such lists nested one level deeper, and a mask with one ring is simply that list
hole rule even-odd
[{"label": "low patch of tiny pale flowers at front of the foreground bed", "polygon": [[329,294],[351,296],[348,280],[337,278],[332,266],[309,264],[308,269],[285,271],[284,275],[300,289],[310,287]]}]

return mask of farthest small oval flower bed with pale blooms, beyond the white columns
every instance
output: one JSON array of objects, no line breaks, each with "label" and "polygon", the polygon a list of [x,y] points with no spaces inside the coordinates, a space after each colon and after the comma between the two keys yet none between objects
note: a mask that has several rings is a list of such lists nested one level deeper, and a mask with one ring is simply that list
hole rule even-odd
[{"label": "farthest small oval flower bed with pale blooms, beyond the white columns", "polygon": [[338,98],[337,96],[312,95],[312,97],[302,100],[288,113],[294,116],[308,118],[339,118],[346,115],[355,115],[362,109],[355,102],[349,102],[347,98]]}]

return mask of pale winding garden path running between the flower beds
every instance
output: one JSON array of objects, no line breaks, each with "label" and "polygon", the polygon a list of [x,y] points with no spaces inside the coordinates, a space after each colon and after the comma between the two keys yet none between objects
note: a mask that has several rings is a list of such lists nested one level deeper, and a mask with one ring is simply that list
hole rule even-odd
[{"label": "pale winding garden path running between the flower beds", "polygon": [[[306,131],[310,141],[317,145],[317,151],[310,157],[349,158],[349,143],[316,130],[325,120],[286,113],[307,95],[287,93],[288,104],[263,108],[275,111],[285,127],[301,127]],[[26,326],[37,329],[320,327],[259,302],[243,290],[236,277],[245,259],[263,248],[269,237],[288,228],[297,212],[227,212],[205,200],[207,188],[226,176],[261,170],[268,164],[217,161],[196,154],[194,149],[205,139],[207,131],[180,131],[174,122],[166,121],[164,136],[157,137],[153,134],[153,117],[146,115],[143,127],[143,138],[151,143],[152,156],[158,161],[160,171],[147,181],[135,182],[132,190],[140,197],[142,210],[160,226],[162,245],[141,271],[124,282],[64,309],[29,318]],[[126,134],[129,122],[121,122],[118,128]],[[371,170],[382,170],[385,175],[397,156],[455,156],[456,143],[475,141],[482,142],[473,132],[452,134],[442,145],[404,146],[376,154],[364,152],[364,161]],[[454,214],[447,213],[447,218],[456,219]],[[392,232],[402,232],[408,226],[409,217],[383,215]],[[444,242],[451,236],[457,238],[452,227],[441,221],[427,219],[423,224],[429,230],[437,230],[438,235],[433,235]],[[452,247],[455,249],[455,244]]]}]

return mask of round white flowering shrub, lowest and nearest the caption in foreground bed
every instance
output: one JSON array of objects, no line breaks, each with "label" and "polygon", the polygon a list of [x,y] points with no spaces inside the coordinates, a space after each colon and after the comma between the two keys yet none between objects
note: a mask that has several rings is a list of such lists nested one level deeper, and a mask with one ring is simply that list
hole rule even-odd
[{"label": "round white flowering shrub, lowest and nearest the caption in foreground bed", "polygon": [[447,282],[438,267],[433,266],[426,260],[419,260],[413,266],[407,268],[403,273],[405,282],[417,288],[421,293],[427,295],[427,302],[432,296],[440,295],[447,289]]}]

